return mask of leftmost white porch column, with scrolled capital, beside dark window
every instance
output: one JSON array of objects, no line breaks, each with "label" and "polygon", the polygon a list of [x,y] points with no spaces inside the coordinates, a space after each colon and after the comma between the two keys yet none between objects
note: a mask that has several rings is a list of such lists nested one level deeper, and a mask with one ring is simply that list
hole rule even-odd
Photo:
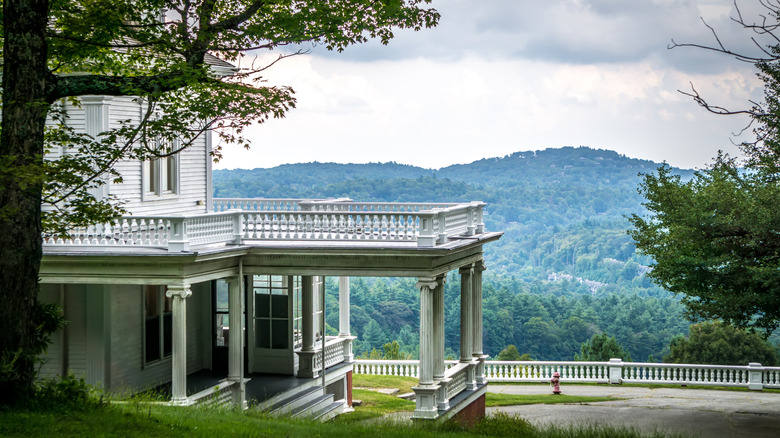
[{"label": "leftmost white porch column, with scrolled capital, beside dark window", "polygon": [[172,299],[173,336],[171,403],[187,405],[187,301],[192,295],[187,283],[169,285],[165,295]]}]

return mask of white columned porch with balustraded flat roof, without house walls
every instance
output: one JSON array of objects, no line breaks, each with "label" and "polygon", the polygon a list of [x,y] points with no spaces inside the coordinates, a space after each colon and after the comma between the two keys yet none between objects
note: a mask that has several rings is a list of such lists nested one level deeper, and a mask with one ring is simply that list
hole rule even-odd
[{"label": "white columned porch with balustraded flat roof, without house walls", "polygon": [[[351,364],[350,276],[415,277],[421,315],[415,418],[438,419],[462,409],[464,396],[484,394],[482,247],[501,233],[485,231],[483,207],[480,202],[218,199],[210,213],[130,216],[74,229],[68,236],[45,236],[41,278],[54,284],[165,285],[171,403],[246,406],[253,396],[249,388],[268,382],[258,374],[295,376],[290,382],[296,388],[306,379],[319,380],[325,388],[333,382],[320,363],[327,370]],[[445,372],[444,282],[453,270],[461,275],[462,357]],[[282,280],[258,286],[258,276]],[[340,277],[339,336],[324,339],[327,345],[321,336],[324,307],[318,305],[324,300],[324,276]],[[229,370],[225,380],[190,374],[193,386],[187,372],[187,303],[193,302],[191,285],[204,282],[226,284],[229,298],[221,312],[233,324],[216,336],[229,349]],[[331,342],[341,350],[334,353]],[[351,373],[351,365],[344,372]],[[288,381],[271,380],[282,387]],[[466,398],[466,404],[475,402]]]}]

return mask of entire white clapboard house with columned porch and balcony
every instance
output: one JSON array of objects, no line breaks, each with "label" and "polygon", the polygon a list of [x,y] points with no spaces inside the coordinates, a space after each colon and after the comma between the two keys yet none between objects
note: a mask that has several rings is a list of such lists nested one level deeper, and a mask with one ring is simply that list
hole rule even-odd
[{"label": "entire white clapboard house with columned porch and balcony", "polygon": [[[82,98],[69,123],[138,121],[130,97]],[[329,418],[351,404],[349,277],[416,277],[415,418],[484,413],[484,204],[212,199],[210,136],[180,154],[118,164],[130,215],[44,237],[41,300],[69,321],[41,372],[110,393],[168,388],[174,404],[231,401]],[[54,151],[58,153],[58,151]],[[460,363],[444,367],[443,285],[462,278]],[[339,277],[339,335],[324,334],[324,277]],[[167,386],[166,386],[167,385]]]}]

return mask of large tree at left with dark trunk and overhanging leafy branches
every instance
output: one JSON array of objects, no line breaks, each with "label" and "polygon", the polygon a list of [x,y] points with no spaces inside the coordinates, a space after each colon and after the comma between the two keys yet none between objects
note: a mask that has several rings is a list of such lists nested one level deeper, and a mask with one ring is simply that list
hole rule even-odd
[{"label": "large tree at left with dark trunk and overhanging leafy branches", "polygon": [[[0,404],[23,399],[33,388],[43,226],[62,233],[68,221],[116,214],[110,204],[90,198],[89,188],[100,185],[101,175],[116,178],[112,166],[120,159],[178,153],[209,128],[222,144],[246,144],[244,126],[283,117],[294,107],[289,87],[247,80],[259,71],[215,77],[212,53],[230,61],[248,50],[306,42],[338,51],[368,38],[387,43],[393,28],[436,25],[439,14],[421,7],[428,2],[4,0]],[[157,13],[164,10],[164,16]],[[137,96],[146,108],[143,122],[125,123],[98,139],[62,123],[46,131],[47,116],[64,121],[55,102],[85,95]],[[154,139],[169,146],[157,148]],[[48,145],[56,144],[78,153],[44,160]],[[219,157],[219,145],[214,155]],[[61,207],[44,221],[42,200]]]}]

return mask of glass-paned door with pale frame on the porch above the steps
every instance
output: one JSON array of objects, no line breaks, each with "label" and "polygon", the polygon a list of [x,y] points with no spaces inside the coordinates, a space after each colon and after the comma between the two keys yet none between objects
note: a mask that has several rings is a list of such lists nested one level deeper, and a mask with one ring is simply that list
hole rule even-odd
[{"label": "glass-paned door with pale frame on the porch above the steps", "polygon": [[255,275],[248,298],[249,372],[295,374],[301,277]]}]

